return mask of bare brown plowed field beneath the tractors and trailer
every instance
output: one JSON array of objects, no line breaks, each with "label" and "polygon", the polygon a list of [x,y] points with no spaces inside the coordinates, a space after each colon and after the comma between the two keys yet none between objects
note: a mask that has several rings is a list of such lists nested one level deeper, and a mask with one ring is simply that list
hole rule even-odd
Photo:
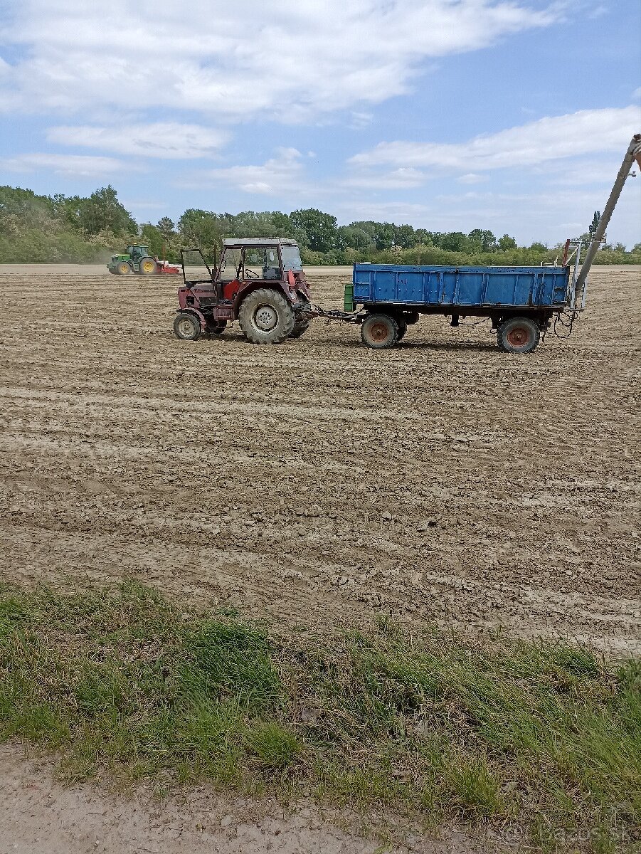
[{"label": "bare brown plowed field beneath the tractors and trailer", "polygon": [[[341,307],[349,272],[312,277]],[[143,582],[283,629],[380,613],[641,649],[638,268],[574,335],[393,350],[173,336],[177,281],[0,268],[2,575]]]}]

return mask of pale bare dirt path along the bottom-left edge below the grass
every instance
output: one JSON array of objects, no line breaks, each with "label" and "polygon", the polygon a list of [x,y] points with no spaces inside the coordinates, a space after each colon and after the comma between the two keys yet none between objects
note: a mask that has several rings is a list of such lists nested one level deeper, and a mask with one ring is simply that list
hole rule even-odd
[{"label": "pale bare dirt path along the bottom-left edge below the grass", "polygon": [[[356,816],[347,822],[357,825]],[[484,849],[487,851],[487,847]],[[317,808],[224,800],[190,787],[159,798],[113,795],[89,783],[63,786],[50,763],[0,746],[0,854],[475,854],[463,834],[382,847],[336,828]]]}]

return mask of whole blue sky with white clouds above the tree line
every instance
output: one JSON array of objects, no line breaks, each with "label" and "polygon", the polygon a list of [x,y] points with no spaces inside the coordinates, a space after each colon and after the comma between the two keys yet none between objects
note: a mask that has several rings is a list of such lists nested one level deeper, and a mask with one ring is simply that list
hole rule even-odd
[{"label": "whole blue sky with white clouds above the tree line", "polygon": [[[0,0],[0,184],[139,221],[573,237],[641,132],[638,0]],[[641,176],[609,240],[641,241]]]}]

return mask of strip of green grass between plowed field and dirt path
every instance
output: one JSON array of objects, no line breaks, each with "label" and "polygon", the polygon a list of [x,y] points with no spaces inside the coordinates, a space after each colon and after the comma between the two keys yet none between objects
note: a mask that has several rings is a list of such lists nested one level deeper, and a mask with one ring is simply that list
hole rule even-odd
[{"label": "strip of green grass between plowed field and dirt path", "polygon": [[0,740],[60,752],[70,776],[311,791],[423,826],[525,831],[550,851],[641,840],[638,660],[384,622],[309,635],[135,583],[4,589]]}]

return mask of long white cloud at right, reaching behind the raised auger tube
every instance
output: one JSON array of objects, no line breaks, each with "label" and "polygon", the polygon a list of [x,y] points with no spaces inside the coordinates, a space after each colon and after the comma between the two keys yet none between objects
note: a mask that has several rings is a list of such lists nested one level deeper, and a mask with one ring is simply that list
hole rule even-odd
[{"label": "long white cloud at right, reaching behind the raised auger tube", "polygon": [[638,107],[581,110],[475,137],[465,143],[380,143],[354,167],[434,168],[448,172],[532,167],[564,157],[621,150],[641,126]]}]

